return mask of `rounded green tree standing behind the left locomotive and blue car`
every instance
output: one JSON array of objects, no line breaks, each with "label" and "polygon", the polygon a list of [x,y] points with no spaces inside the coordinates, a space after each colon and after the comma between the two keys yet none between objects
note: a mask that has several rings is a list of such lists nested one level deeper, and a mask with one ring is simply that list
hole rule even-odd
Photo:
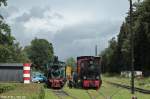
[{"label": "rounded green tree standing behind the left locomotive and blue car", "polygon": [[32,61],[33,66],[37,69],[44,70],[46,64],[53,58],[53,46],[45,39],[37,39],[31,41],[31,45],[25,47],[27,56]]}]

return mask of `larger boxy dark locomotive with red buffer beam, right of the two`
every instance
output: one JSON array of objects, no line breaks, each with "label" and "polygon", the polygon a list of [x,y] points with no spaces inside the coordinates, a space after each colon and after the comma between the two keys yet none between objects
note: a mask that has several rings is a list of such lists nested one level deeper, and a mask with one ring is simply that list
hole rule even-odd
[{"label": "larger boxy dark locomotive with red buffer beam, right of the two", "polygon": [[77,57],[77,74],[73,75],[75,85],[81,86],[82,88],[100,88],[102,84],[100,65],[100,57]]}]

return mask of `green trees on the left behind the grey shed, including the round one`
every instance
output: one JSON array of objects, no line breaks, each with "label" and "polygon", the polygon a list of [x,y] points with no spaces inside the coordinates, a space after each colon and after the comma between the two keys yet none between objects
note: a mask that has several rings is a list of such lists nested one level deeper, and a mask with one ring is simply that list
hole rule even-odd
[{"label": "green trees on the left behind the grey shed, including the round one", "polygon": [[[7,0],[0,0],[1,6],[7,6]],[[29,62],[36,69],[44,71],[53,56],[53,45],[45,39],[35,38],[30,45],[21,47],[15,42],[10,26],[0,14],[0,63]]]}]

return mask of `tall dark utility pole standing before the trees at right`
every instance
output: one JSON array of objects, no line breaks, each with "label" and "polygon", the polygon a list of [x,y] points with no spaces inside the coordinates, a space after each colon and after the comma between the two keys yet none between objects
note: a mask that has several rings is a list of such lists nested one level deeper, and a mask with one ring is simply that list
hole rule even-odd
[{"label": "tall dark utility pole standing before the trees at right", "polygon": [[133,7],[132,0],[130,0],[130,33],[131,33],[131,93],[134,94],[134,34],[133,34]]}]

